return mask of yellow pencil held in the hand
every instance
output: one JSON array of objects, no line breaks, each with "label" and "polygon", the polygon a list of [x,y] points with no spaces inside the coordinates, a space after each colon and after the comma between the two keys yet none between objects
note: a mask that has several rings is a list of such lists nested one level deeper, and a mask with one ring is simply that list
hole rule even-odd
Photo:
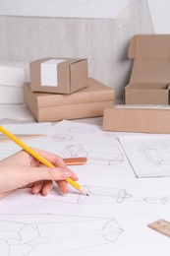
[{"label": "yellow pencil held in the hand", "polygon": [[[50,161],[45,160],[42,158],[39,154],[37,154],[35,151],[30,149],[28,145],[26,145],[24,142],[22,142],[20,139],[18,139],[15,135],[7,131],[3,126],[0,126],[0,132],[6,135],[8,138],[10,138],[13,142],[15,142],[17,145],[19,145],[22,149],[24,149],[26,152],[28,152],[29,155],[31,155],[36,160],[39,160],[47,167],[55,167]],[[76,181],[74,181],[72,178],[67,178],[66,181],[72,185],[74,188],[88,196],[88,194],[83,190],[82,186],[78,184]]]}]

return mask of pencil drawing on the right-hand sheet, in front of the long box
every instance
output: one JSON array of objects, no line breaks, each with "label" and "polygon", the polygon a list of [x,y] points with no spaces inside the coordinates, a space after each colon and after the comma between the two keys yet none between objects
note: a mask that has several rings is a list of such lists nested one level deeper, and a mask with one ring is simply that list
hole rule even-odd
[{"label": "pencil drawing on the right-hand sheet, in front of the long box", "polygon": [[170,145],[165,143],[147,145],[143,143],[139,145],[139,151],[144,161],[152,162],[157,167],[170,164]]}]

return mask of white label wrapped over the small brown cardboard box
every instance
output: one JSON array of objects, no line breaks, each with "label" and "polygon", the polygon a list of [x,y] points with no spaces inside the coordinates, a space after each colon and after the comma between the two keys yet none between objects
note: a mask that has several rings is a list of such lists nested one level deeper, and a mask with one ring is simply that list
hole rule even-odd
[{"label": "white label wrapped over the small brown cardboard box", "polygon": [[40,65],[41,86],[57,87],[57,65],[66,59],[50,59]]}]

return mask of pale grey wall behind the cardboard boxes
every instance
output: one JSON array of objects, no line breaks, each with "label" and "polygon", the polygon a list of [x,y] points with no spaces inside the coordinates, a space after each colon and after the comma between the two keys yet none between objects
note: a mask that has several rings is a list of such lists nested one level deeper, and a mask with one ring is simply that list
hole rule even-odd
[{"label": "pale grey wall behind the cardboard boxes", "polygon": [[85,57],[89,76],[122,98],[131,71],[128,43],[136,33],[153,33],[146,0],[130,0],[116,20],[0,17],[0,60]]}]

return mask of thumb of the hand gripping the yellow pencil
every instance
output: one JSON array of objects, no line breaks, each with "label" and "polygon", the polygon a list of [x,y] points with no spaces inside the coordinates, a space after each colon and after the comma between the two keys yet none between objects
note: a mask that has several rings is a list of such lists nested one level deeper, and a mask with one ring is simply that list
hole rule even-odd
[{"label": "thumb of the hand gripping the yellow pencil", "polygon": [[31,167],[28,170],[28,182],[38,180],[63,180],[72,175],[72,171],[67,167]]}]

